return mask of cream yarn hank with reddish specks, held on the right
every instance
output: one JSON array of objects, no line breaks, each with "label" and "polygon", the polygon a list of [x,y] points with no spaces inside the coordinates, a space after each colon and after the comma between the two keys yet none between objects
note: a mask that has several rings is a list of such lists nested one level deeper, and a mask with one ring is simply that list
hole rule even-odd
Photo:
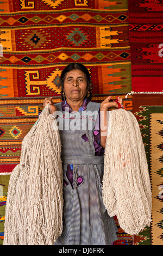
[{"label": "cream yarn hank with reddish specks, held on the right", "polygon": [[122,108],[109,115],[103,202],[127,234],[138,234],[151,223],[152,193],[145,147],[134,114]]}]

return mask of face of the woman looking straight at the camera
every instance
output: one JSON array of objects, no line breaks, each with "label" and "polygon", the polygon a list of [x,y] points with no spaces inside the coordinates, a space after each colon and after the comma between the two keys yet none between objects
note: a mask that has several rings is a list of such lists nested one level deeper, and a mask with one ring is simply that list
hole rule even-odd
[{"label": "face of the woman looking straight at the camera", "polygon": [[87,94],[87,82],[82,70],[74,69],[67,72],[64,93],[66,100],[84,100]]}]

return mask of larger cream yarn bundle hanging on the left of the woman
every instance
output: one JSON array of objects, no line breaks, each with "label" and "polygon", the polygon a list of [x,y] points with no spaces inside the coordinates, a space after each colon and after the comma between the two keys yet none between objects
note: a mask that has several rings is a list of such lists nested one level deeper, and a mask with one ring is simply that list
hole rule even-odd
[{"label": "larger cream yarn bundle hanging on the left of the woman", "polygon": [[53,245],[62,232],[62,163],[57,121],[49,104],[24,137],[12,170],[3,245]]}]

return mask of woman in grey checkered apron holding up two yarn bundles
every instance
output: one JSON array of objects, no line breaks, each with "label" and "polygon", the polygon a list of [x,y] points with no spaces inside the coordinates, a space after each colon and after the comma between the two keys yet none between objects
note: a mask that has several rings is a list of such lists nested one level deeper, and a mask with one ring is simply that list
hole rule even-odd
[{"label": "woman in grey checkered apron holding up two yarn bundles", "polygon": [[[43,102],[43,107],[50,103],[52,114],[56,111],[62,113],[58,119],[62,121],[60,127],[63,128],[59,132],[64,214],[62,234],[54,245],[111,245],[117,240],[117,228],[102,199],[103,152],[106,113],[111,107],[117,108],[118,104],[110,102],[111,96],[101,104],[91,101],[90,75],[82,64],[69,64],[62,71],[60,80],[62,102],[53,105],[52,97]],[[118,103],[122,103],[119,97]],[[101,129],[96,113],[101,113]],[[96,120],[93,119],[95,116]]]}]

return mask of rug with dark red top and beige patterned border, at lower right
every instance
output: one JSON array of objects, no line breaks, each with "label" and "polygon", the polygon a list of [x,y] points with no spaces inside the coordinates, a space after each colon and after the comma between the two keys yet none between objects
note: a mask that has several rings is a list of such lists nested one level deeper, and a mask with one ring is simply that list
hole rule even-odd
[{"label": "rug with dark red top and beige patterned border, at lower right", "polygon": [[133,113],[139,122],[152,185],[152,224],[134,245],[163,245],[163,94],[134,94]]}]

